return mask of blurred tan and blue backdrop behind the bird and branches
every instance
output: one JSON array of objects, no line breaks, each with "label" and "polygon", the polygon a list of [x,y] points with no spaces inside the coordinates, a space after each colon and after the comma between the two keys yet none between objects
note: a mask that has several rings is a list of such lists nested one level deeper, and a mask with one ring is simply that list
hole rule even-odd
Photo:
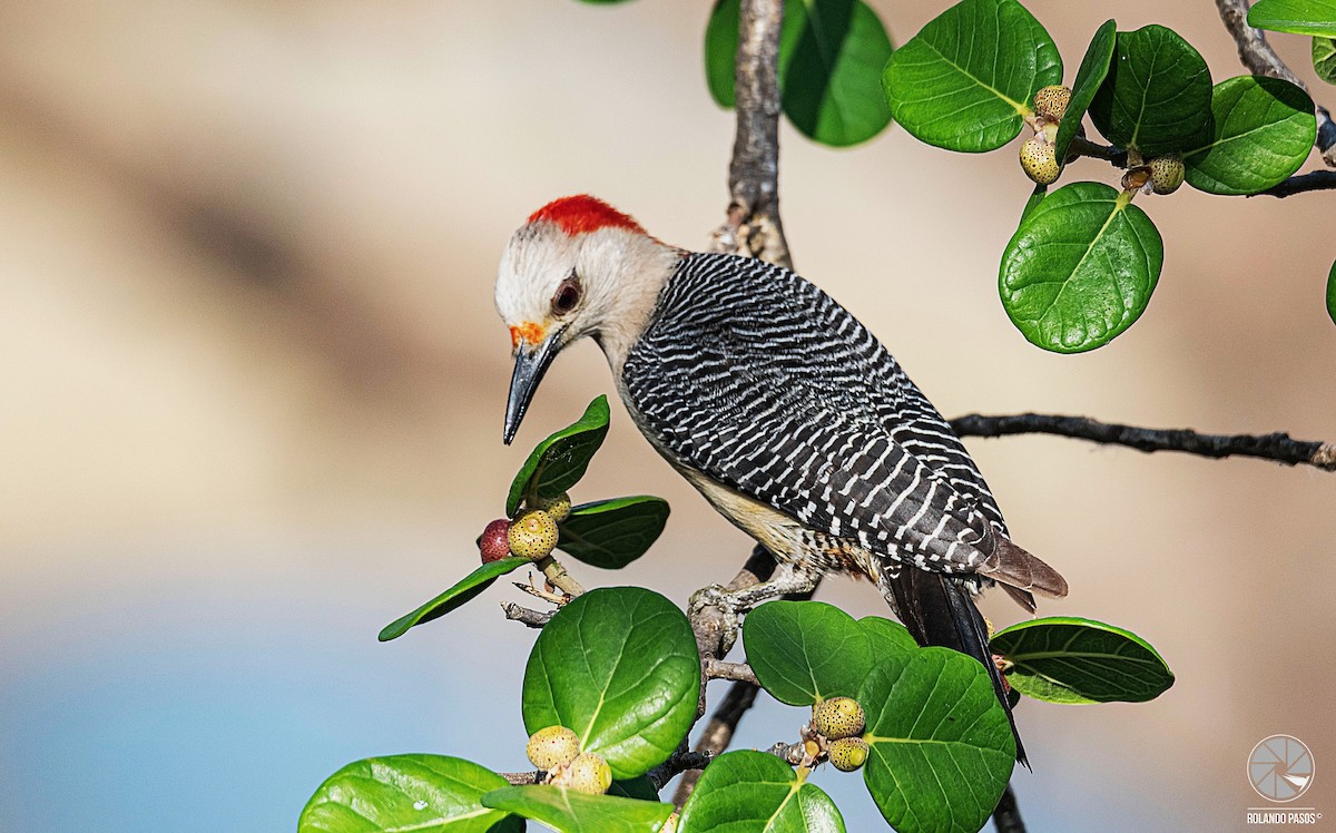
[{"label": "blurred tan and blue backdrop behind the bird and branches", "polygon": [[[945,4],[872,5],[903,43]],[[1027,5],[1069,82],[1114,12],[1241,72],[1205,0]],[[476,566],[528,449],[612,392],[581,345],[501,445],[510,231],[581,191],[683,246],[721,221],[733,124],[705,90],[708,7],[0,4],[0,830],[290,830],[355,758],[524,766],[533,634],[496,607],[517,591],[375,634]],[[1273,41],[1312,82],[1307,40]],[[892,127],[831,151],[787,124],[782,142],[799,270],[946,414],[1336,440],[1329,197],[1138,199],[1166,247],[1150,308],[1062,357],[997,298],[1029,193],[1014,147],[954,155]],[[1069,176],[1116,182],[1093,160]],[[1336,814],[1336,475],[969,445],[1017,540],[1071,583],[1041,612],[1132,628],[1177,674],[1146,705],[1022,706],[1031,829],[1242,828],[1263,804],[1245,761],[1273,733],[1315,753],[1299,804]],[[574,497],[641,492],[672,501],[667,533],[621,575],[578,567],[587,584],[685,604],[732,576],[747,540],[615,406]],[[866,583],[820,598],[883,611]],[[1005,598],[986,612],[1019,618]],[[759,707],[739,743],[802,717]],[[851,830],[884,829],[860,778],[815,777]]]}]

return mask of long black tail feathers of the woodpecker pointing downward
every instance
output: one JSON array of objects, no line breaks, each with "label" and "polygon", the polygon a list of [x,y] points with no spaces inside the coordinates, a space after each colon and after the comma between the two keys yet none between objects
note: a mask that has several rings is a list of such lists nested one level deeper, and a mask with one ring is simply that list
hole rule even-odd
[{"label": "long black tail feathers of the woodpecker pointing downward", "polygon": [[1015,737],[1015,759],[1029,769],[1021,733],[1017,731],[1015,718],[1007,703],[1002,673],[993,662],[993,651],[989,648],[987,626],[969,590],[957,579],[912,567],[902,567],[900,574],[887,582],[887,590],[900,620],[919,644],[935,644],[969,654],[989,670],[993,691],[1006,710],[1006,719]]}]

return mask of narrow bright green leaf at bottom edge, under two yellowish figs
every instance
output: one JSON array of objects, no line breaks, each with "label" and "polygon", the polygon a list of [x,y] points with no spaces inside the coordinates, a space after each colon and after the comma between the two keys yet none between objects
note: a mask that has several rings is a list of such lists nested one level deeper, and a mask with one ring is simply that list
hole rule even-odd
[{"label": "narrow bright green leaf at bottom edge, under two yellowish figs", "polygon": [[620,796],[591,796],[562,786],[506,786],[482,804],[541,821],[558,833],[656,833],[672,816],[671,804]]}]

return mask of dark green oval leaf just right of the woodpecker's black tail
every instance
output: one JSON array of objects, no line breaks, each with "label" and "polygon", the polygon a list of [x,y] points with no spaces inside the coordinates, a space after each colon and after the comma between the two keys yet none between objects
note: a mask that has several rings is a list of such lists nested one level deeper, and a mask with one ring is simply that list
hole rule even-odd
[{"label": "dark green oval leaf just right of the woodpecker's black tail", "polygon": [[1007,681],[1053,703],[1140,703],[1173,685],[1165,661],[1141,636],[1104,622],[1049,616],[993,635],[1011,663]]}]

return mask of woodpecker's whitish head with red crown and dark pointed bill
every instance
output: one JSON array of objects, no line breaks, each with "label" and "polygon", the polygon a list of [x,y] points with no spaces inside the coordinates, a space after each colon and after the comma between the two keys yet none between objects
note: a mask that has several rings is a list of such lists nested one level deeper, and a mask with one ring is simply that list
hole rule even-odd
[{"label": "woodpecker's whitish head with red crown and dark pointed bill", "polygon": [[588,195],[564,197],[529,217],[501,255],[496,286],[516,357],[506,443],[566,345],[592,336],[620,373],[681,254]]}]

